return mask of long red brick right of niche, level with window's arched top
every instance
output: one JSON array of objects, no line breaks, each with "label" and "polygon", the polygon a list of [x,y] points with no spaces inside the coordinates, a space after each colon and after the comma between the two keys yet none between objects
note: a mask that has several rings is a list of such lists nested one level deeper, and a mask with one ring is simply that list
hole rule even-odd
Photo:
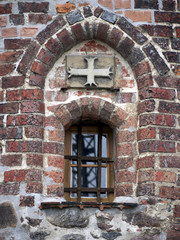
[{"label": "long red brick right of niche, level with window's arched top", "polygon": [[140,126],[160,125],[160,126],[176,126],[176,117],[163,114],[145,114],[140,116]]}]

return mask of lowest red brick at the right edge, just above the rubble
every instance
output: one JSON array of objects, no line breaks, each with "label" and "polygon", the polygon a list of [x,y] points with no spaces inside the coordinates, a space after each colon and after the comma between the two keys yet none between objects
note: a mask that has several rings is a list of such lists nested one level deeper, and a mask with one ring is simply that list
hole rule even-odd
[{"label": "lowest red brick at the right edge, just above the rubble", "polygon": [[160,187],[159,196],[178,200],[180,196],[180,188],[162,186]]}]

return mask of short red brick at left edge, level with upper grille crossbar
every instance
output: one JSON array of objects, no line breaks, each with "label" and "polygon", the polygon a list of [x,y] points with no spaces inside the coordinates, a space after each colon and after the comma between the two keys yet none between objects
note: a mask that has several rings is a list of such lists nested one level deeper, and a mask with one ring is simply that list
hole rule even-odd
[{"label": "short red brick at left edge, level with upper grille crossbar", "polygon": [[4,166],[21,166],[22,164],[22,155],[2,155],[0,162]]}]

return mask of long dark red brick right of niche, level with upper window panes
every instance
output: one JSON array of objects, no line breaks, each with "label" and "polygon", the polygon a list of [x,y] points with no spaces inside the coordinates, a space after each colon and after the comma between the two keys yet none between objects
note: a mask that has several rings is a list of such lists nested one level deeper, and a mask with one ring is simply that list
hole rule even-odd
[{"label": "long dark red brick right of niche, level with upper window panes", "polygon": [[163,142],[159,140],[146,140],[139,143],[139,152],[164,152],[174,153],[176,152],[174,142]]}]

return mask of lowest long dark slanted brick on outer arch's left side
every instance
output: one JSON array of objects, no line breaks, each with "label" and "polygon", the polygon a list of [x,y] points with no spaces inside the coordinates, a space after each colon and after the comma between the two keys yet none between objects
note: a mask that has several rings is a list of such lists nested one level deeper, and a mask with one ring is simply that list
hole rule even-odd
[{"label": "lowest long dark slanted brick on outer arch's left side", "polygon": [[40,45],[38,43],[31,42],[22,60],[19,63],[19,66],[17,68],[18,72],[22,73],[23,75],[26,74],[26,72],[30,69],[32,61],[35,55],[37,54],[39,48],[40,48]]}]

